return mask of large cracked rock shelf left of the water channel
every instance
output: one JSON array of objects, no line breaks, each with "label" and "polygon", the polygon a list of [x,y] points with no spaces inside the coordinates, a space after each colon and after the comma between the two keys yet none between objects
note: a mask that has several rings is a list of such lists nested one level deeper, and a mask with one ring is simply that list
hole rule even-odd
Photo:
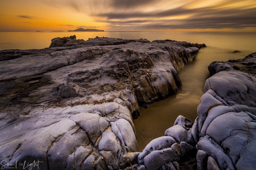
[{"label": "large cracked rock shelf left of the water channel", "polygon": [[1,168],[136,168],[139,105],[175,93],[178,72],[199,50],[164,40],[70,41],[0,51]]}]

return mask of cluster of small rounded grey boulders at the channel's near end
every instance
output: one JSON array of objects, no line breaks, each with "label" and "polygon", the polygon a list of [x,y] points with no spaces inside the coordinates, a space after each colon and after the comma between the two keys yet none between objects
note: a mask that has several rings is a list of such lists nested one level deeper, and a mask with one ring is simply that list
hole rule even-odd
[{"label": "cluster of small rounded grey boulders at the channel's near end", "polygon": [[[165,136],[153,139],[138,155],[138,169],[196,169],[196,141],[191,130],[197,129],[183,116],[178,116],[173,127]],[[186,124],[190,128],[183,127]]]}]

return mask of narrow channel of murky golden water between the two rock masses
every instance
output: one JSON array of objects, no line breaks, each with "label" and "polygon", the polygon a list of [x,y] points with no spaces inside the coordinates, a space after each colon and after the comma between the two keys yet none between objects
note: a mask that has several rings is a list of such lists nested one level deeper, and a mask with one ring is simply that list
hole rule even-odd
[{"label": "narrow channel of murky golden water between the two rock masses", "polygon": [[203,95],[203,87],[210,76],[207,67],[212,61],[239,59],[248,55],[247,53],[248,51],[232,53],[231,49],[219,49],[212,46],[200,49],[194,61],[180,72],[183,85],[179,91],[151,104],[148,109],[141,108],[141,116],[133,120],[140,151],[151,140],[164,136],[165,130],[173,126],[177,116],[183,115],[192,122],[195,121],[197,106]]}]

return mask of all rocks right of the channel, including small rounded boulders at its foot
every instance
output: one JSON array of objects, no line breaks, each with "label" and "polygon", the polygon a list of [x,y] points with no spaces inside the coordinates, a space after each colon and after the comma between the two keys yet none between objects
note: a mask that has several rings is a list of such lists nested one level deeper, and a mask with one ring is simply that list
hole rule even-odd
[{"label": "all rocks right of the channel, including small rounded boulders at its foot", "polygon": [[179,116],[138,155],[137,169],[255,169],[255,59],[212,62],[194,124]]}]

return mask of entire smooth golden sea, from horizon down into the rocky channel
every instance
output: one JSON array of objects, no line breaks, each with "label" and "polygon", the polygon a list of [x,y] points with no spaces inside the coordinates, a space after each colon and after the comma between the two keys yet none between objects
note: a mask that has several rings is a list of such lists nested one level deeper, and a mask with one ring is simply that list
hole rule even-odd
[{"label": "entire smooth golden sea, from horizon down into the rocky channel", "polygon": [[104,36],[206,44],[207,47],[199,50],[194,61],[180,71],[182,86],[179,91],[147,109],[141,108],[141,116],[133,120],[140,151],[151,140],[164,136],[177,116],[183,115],[195,121],[203,87],[210,76],[207,67],[212,61],[240,59],[256,51],[256,31],[0,32],[0,50],[47,48],[52,38],[70,35],[83,40]]}]

